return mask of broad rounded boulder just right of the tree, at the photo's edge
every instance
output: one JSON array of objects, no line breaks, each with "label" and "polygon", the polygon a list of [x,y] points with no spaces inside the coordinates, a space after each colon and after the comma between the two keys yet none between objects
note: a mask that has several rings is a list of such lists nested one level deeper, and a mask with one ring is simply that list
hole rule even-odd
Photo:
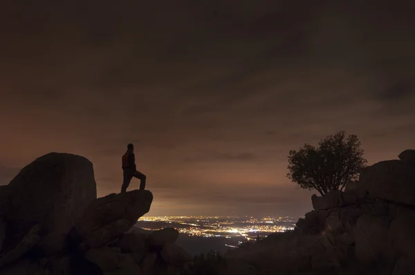
[{"label": "broad rounded boulder just right of the tree, at the photo's edge", "polygon": [[402,160],[378,162],[360,171],[359,181],[369,196],[415,205],[415,169]]}]

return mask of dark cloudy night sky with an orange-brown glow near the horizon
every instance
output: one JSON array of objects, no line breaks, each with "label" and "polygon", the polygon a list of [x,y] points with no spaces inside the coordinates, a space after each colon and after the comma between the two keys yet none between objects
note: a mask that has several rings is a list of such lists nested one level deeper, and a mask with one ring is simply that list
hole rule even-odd
[{"label": "dark cloudy night sky with an orange-brown glow near the horizon", "polygon": [[[202,3],[203,2],[203,3]],[[0,3],[0,184],[50,151],[149,215],[292,215],[287,155],[345,130],[369,164],[415,147],[415,1]],[[138,189],[133,179],[130,189]]]}]

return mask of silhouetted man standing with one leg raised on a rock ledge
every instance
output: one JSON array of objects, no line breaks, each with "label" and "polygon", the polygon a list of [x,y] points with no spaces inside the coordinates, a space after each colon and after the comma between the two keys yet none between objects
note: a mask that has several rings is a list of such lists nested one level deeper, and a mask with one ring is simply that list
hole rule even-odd
[{"label": "silhouetted man standing with one leg raised on a rock ledge", "polygon": [[146,176],[145,174],[137,171],[136,156],[134,155],[133,144],[128,144],[127,152],[122,155],[122,170],[124,180],[122,181],[121,193],[124,193],[127,190],[129,183],[133,177],[140,180],[140,190],[145,189]]}]

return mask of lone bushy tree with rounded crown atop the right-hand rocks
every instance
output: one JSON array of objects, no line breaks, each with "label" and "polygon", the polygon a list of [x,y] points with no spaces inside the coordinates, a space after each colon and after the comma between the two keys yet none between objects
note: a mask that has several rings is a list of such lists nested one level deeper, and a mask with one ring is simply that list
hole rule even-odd
[{"label": "lone bushy tree with rounded crown atop the right-hand rocks", "polygon": [[287,177],[302,189],[315,189],[322,196],[331,190],[343,190],[366,167],[364,152],[356,135],[339,131],[321,140],[317,147],[304,144],[298,151],[291,150]]}]

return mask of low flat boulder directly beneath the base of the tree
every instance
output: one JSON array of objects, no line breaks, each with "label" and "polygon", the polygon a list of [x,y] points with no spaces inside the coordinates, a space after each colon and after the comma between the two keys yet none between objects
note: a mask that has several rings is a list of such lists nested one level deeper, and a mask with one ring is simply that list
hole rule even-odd
[{"label": "low flat boulder directly beneath the base of the tree", "polygon": [[311,196],[311,202],[313,203],[314,210],[325,210],[353,205],[356,203],[356,197],[350,193],[334,190],[321,197]]}]

